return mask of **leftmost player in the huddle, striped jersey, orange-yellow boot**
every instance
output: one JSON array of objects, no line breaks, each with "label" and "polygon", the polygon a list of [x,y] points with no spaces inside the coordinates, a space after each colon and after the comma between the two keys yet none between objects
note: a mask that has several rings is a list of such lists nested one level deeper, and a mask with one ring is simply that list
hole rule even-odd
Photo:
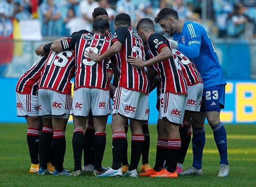
[{"label": "leftmost player in the huddle, striped jersey, orange-yellow boot", "polygon": [[[50,52],[50,47],[47,52]],[[16,86],[17,116],[25,117],[28,123],[27,143],[31,158],[30,173],[37,173],[39,170],[39,134],[43,121],[39,116],[38,82],[47,56],[48,54],[40,56],[33,66],[21,76]]]}]

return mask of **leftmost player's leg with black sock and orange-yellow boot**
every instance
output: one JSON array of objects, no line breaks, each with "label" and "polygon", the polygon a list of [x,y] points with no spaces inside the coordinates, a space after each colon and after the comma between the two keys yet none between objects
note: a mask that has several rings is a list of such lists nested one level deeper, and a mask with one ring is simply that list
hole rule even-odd
[{"label": "leftmost player's leg with black sock and orange-yellow boot", "polygon": [[26,116],[25,119],[28,123],[27,143],[31,159],[29,172],[37,173],[39,170],[39,135],[43,126],[43,120],[39,116]]}]

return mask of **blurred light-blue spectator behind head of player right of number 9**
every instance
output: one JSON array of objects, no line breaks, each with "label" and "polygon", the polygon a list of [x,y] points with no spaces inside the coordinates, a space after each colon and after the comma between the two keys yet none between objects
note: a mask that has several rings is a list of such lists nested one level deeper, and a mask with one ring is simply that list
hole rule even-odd
[{"label": "blurred light-blue spectator behind head of player right of number 9", "polygon": [[131,21],[132,21],[132,25],[133,27],[136,27],[136,18],[137,18],[137,14],[136,14],[136,10],[135,10],[135,5],[131,0],[118,0],[118,2],[116,2],[116,11],[118,12],[118,14],[120,13],[126,13],[129,14],[131,17]]}]

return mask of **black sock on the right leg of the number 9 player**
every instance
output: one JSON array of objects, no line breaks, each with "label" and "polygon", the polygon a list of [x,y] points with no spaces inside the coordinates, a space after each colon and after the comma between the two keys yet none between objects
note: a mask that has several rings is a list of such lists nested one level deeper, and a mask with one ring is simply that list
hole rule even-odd
[{"label": "black sock on the right leg of the number 9 player", "polygon": [[101,171],[101,163],[106,147],[106,132],[95,132],[94,138],[94,169]]}]

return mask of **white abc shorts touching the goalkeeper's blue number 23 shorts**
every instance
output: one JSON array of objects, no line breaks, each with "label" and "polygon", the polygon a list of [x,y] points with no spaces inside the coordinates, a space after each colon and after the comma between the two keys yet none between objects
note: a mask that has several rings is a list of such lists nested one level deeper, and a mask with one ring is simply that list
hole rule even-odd
[{"label": "white abc shorts touching the goalkeeper's blue number 23 shorts", "polygon": [[188,87],[188,97],[185,110],[199,112],[202,102],[203,83]]}]

